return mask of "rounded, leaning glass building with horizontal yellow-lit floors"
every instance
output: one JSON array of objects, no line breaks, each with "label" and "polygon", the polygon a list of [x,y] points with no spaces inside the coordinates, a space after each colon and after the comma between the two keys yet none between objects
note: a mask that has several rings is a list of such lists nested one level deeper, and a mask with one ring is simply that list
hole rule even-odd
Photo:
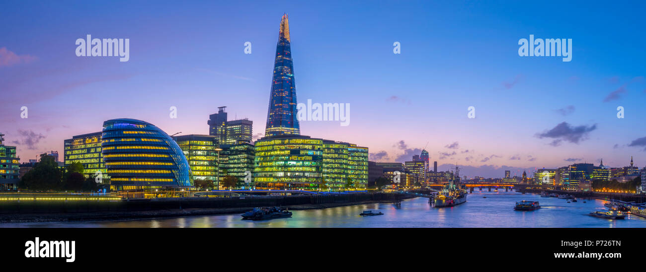
[{"label": "rounded, leaning glass building with horizontal yellow-lit floors", "polygon": [[193,186],[191,169],[180,146],[149,122],[103,122],[101,149],[110,186],[116,190]]}]

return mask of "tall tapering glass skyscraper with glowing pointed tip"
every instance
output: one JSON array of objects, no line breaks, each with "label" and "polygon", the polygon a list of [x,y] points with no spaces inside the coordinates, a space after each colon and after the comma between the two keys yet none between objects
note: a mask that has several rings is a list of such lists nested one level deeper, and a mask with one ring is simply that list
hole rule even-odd
[{"label": "tall tapering glass skyscraper with glowing pointed tip", "polygon": [[300,134],[287,14],[280,20],[265,136]]}]

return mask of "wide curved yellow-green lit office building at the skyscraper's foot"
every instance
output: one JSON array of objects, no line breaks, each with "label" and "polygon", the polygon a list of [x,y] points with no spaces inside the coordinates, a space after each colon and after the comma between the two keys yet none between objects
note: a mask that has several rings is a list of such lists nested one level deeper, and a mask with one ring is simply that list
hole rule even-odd
[{"label": "wide curved yellow-green lit office building at the skyscraper's foot", "polygon": [[358,188],[368,183],[368,148],[311,138],[277,135],[255,142],[256,188],[344,188],[348,179]]}]

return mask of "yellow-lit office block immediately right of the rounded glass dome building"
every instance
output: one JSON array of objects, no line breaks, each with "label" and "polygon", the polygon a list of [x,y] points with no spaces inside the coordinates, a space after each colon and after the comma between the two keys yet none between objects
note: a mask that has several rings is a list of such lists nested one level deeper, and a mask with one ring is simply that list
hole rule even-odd
[{"label": "yellow-lit office block immediately right of the rounded glass dome building", "polygon": [[182,149],[191,168],[191,180],[208,180],[218,188],[218,137],[213,135],[180,135],[173,139]]}]

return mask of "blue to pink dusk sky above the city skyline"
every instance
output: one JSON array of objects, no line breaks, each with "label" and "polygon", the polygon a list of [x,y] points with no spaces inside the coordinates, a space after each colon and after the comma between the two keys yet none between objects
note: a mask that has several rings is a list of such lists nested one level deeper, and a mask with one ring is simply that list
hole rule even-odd
[{"label": "blue to pink dusk sky above the city skyline", "polygon": [[[380,162],[411,160],[425,148],[439,170],[458,164],[469,177],[600,159],[620,167],[630,156],[641,168],[645,8],[643,1],[6,1],[0,132],[24,162],[63,153],[63,140],[100,131],[108,119],[207,134],[209,114],[227,106],[230,120],[249,118],[261,137],[287,13],[298,102],[351,105],[348,126],[301,121],[303,135],[366,146]],[[86,35],[129,39],[129,61],[77,56],[75,42]],[[530,35],[572,39],[571,61],[519,56],[519,39]]]}]

